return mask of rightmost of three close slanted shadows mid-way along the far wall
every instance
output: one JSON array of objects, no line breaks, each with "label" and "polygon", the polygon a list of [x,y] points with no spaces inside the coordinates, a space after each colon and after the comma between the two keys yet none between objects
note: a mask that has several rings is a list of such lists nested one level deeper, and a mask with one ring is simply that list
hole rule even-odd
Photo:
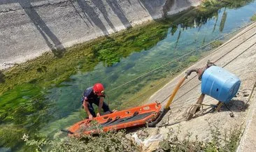
[{"label": "rightmost of three close slanted shadows mid-way along the far wall", "polygon": [[118,15],[118,18],[122,22],[122,24],[125,26],[125,28],[129,28],[131,26],[131,23],[129,20],[127,20],[127,17],[125,16],[125,13],[123,12],[122,8],[120,7],[118,1],[113,0],[106,0],[109,6],[111,6],[111,9],[113,12]]}]

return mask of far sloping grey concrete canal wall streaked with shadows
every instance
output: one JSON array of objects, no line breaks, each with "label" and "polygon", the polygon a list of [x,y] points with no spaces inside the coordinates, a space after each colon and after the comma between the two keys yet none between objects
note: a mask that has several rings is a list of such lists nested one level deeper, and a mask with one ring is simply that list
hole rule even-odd
[{"label": "far sloping grey concrete canal wall streaked with shadows", "polygon": [[201,0],[0,1],[0,69],[178,13]]}]

